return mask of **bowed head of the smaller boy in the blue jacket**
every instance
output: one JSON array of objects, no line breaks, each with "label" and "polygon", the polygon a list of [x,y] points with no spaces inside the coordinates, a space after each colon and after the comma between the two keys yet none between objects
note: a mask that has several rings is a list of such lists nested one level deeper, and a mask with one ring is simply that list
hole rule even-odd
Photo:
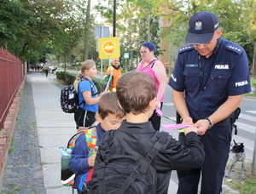
[{"label": "bowed head of the smaller boy in the blue jacket", "polygon": [[125,117],[125,111],[120,108],[116,94],[109,92],[103,94],[99,100],[97,121],[101,123],[105,131],[117,129]]}]

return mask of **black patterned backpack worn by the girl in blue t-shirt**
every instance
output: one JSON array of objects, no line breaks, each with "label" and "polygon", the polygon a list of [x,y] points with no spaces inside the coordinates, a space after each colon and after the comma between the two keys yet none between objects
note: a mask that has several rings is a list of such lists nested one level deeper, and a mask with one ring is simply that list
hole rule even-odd
[{"label": "black patterned backpack worn by the girl in blue t-shirt", "polygon": [[[91,90],[91,96],[95,96],[96,93],[94,93],[94,87],[91,83],[91,81],[86,77],[81,77],[81,81],[88,81],[90,82],[90,90]],[[84,104],[85,101],[83,100],[81,103],[79,103],[79,94],[75,91],[74,85],[70,84],[68,86],[65,86],[61,89],[61,109],[62,111],[66,113],[74,113],[78,110],[79,106]]]}]

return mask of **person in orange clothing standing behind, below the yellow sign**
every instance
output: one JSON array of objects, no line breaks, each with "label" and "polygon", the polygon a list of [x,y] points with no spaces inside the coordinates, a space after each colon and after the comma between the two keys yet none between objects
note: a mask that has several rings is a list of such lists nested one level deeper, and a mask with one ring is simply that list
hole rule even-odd
[{"label": "person in orange clothing standing behind, below the yellow sign", "polygon": [[108,82],[112,73],[111,83],[109,84],[108,92],[116,92],[116,83],[119,80],[119,77],[122,76],[122,74],[119,66],[119,59],[113,59],[111,63],[112,65],[108,67],[104,79]]}]

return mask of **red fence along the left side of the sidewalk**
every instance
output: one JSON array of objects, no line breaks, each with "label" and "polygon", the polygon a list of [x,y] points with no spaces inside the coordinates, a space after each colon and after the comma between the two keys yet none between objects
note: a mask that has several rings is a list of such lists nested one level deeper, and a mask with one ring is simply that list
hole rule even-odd
[{"label": "red fence along the left side of the sidewalk", "polygon": [[23,61],[0,48],[0,130],[24,75]]}]

